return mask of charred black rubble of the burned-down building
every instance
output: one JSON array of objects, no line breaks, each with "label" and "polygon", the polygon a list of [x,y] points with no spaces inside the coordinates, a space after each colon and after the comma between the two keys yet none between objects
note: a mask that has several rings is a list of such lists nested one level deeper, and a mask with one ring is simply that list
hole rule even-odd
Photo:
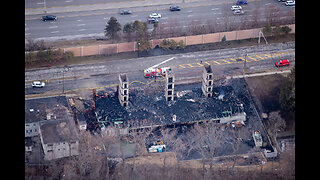
[{"label": "charred black rubble of the burned-down building", "polygon": [[[208,80],[211,79],[212,77],[208,78]],[[175,82],[174,79],[172,82]],[[168,85],[166,82],[162,83],[162,86]],[[95,113],[103,129],[108,129],[108,127],[124,129],[157,127],[199,121],[216,123],[240,121],[244,124],[246,121],[245,105],[237,97],[233,87],[229,85],[210,85],[210,87],[213,88],[212,98],[203,96],[202,84],[172,86],[177,96],[171,103],[167,103],[168,96],[161,91],[150,93],[143,87],[131,87],[129,107],[122,107],[116,95],[109,93],[108,98],[100,98],[95,101]],[[163,89],[167,91],[169,88]],[[122,132],[128,131],[122,130]]]}]

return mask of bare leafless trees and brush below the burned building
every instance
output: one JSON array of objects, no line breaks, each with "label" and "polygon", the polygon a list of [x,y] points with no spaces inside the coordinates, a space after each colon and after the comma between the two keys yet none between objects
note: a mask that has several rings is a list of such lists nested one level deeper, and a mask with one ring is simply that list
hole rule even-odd
[{"label": "bare leafless trees and brush below the burned building", "polygon": [[[217,149],[225,143],[229,136],[225,135],[225,130],[214,123],[203,123],[194,125],[189,130],[185,130],[183,135],[175,128],[161,128],[159,133],[152,130],[134,131],[129,136],[101,136],[92,134],[89,131],[80,132],[80,154],[70,158],[51,161],[50,165],[43,169],[43,173],[50,179],[292,179],[294,178],[294,152],[283,152],[280,159],[284,164],[274,165],[271,169],[248,166],[247,168],[237,168],[237,159],[233,163],[224,167],[217,166],[212,157],[215,157]],[[232,137],[236,142],[237,137],[243,136],[239,133],[246,133],[243,129],[233,132]],[[181,132],[180,132],[181,133]],[[245,135],[246,136],[246,135]],[[178,160],[182,156],[199,152],[202,165],[185,166],[183,162],[172,161],[172,156],[168,152],[161,153],[160,158],[155,158],[146,150],[148,138],[158,138],[167,145],[168,151],[174,153]],[[125,157],[125,148],[121,146],[123,142],[134,144],[131,158]],[[119,145],[118,157],[114,158],[114,145]],[[238,149],[237,143],[232,145],[233,149]],[[147,157],[150,158],[147,158]],[[170,161],[169,161],[170,156]],[[141,161],[139,157],[150,161]],[[192,164],[192,163],[191,163]],[[277,168],[277,171],[274,170]],[[26,179],[36,178],[37,172],[26,173]]]}]

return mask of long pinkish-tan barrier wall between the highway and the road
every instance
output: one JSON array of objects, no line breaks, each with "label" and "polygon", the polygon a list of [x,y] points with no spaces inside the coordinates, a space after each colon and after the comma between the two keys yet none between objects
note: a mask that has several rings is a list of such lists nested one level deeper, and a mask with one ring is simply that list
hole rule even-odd
[{"label": "long pinkish-tan barrier wall between the highway and the road", "polygon": [[[290,33],[295,33],[295,24],[288,25],[291,28]],[[227,41],[232,40],[242,40],[250,38],[258,38],[259,32],[263,28],[256,29],[247,29],[239,31],[230,31],[230,32],[218,32],[211,34],[202,34],[195,36],[182,36],[174,38],[165,38],[172,39],[176,42],[183,41],[186,46],[188,45],[197,45],[197,44],[206,44],[206,43],[216,43],[220,42],[221,39],[226,36]],[[160,45],[163,39],[153,39],[151,40],[152,48],[155,48],[157,45]],[[79,56],[91,56],[91,55],[110,55],[122,52],[135,52],[138,50],[137,42],[125,42],[117,44],[103,44],[103,45],[91,45],[91,46],[79,46],[79,47],[70,47],[62,48],[63,52],[71,51],[75,57]]]}]

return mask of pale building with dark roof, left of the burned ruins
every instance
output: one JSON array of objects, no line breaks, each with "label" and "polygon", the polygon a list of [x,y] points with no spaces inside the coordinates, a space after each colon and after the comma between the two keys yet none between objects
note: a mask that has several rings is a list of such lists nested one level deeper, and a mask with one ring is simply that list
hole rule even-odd
[{"label": "pale building with dark roof, left of the burned ruins", "polygon": [[[72,116],[66,96],[25,101],[25,138],[40,137],[44,160],[79,154],[78,132]],[[27,145],[26,150],[32,151]]]}]

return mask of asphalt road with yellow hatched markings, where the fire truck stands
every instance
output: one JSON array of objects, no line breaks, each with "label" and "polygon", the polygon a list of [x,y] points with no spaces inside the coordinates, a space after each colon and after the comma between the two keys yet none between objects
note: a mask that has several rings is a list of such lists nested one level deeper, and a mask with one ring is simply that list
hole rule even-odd
[{"label": "asphalt road with yellow hatched markings, where the fire truck stands", "polygon": [[[247,57],[246,54],[248,54]],[[245,58],[247,59],[246,73],[287,70],[287,67],[275,67],[274,62],[279,59],[289,59],[290,66],[294,66],[295,44],[294,42],[280,43],[26,70],[25,94],[26,97],[32,97],[30,95],[41,96],[63,91],[90,93],[92,88],[104,89],[117,85],[120,73],[127,73],[129,82],[132,83],[131,87],[153,83],[154,79],[143,77],[143,70],[171,57],[174,59],[162,66],[170,66],[173,69],[177,82],[200,79],[204,64],[213,65],[216,77],[226,77],[242,74]],[[47,83],[44,88],[32,88],[31,81],[33,80],[45,80]]]}]

